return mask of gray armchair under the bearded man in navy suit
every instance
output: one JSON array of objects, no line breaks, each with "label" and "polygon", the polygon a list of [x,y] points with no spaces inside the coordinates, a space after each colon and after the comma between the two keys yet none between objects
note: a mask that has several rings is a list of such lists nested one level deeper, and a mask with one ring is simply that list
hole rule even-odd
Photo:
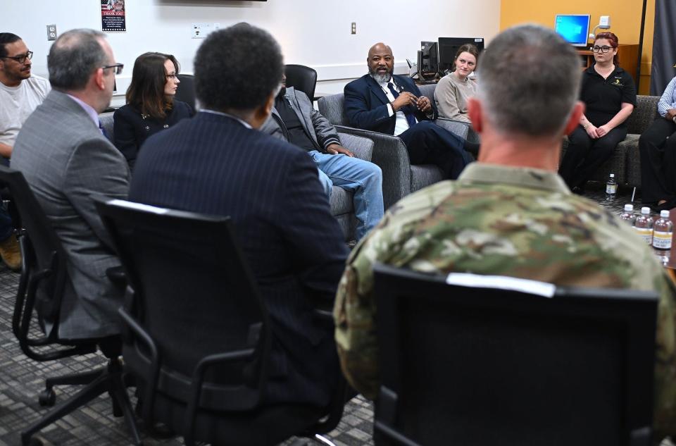
[{"label": "gray armchair under the bearded man in navy suit", "polygon": [[[434,88],[437,85],[421,85],[420,92],[434,100]],[[347,117],[344,114],[344,95],[332,94],[320,98],[318,101],[319,111],[330,123],[335,125],[340,132],[368,137],[373,140],[373,159],[382,169],[382,197],[385,209],[396,203],[402,197],[415,192],[434,182],[443,180],[442,172],[430,164],[411,166],[408,159],[408,151],[401,139],[370,130],[361,130],[349,127]],[[442,122],[443,121],[443,122]],[[465,123],[451,120],[437,120],[446,130],[467,139],[469,127]]]}]

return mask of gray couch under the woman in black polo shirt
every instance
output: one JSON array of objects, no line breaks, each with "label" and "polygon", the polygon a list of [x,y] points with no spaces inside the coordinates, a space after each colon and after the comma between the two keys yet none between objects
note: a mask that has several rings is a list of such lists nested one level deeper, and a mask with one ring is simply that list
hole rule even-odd
[{"label": "gray couch under the woman in black polo shirt", "polygon": [[[613,156],[603,163],[591,180],[606,182],[608,175],[615,174],[620,185],[641,186],[641,157],[639,155],[639,137],[655,120],[658,96],[636,97],[637,106],[627,119],[627,137],[615,148]],[[563,140],[563,155],[568,147],[568,138]],[[563,158],[563,156],[562,156]]]}]

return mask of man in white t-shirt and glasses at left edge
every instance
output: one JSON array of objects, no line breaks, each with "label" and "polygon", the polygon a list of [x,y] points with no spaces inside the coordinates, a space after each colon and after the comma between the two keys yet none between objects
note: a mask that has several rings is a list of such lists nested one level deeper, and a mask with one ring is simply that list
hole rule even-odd
[{"label": "man in white t-shirt and glasses at left edge", "polygon": [[[5,165],[24,121],[51,89],[48,80],[30,74],[32,55],[18,35],[0,32],[0,162]],[[0,206],[0,256],[14,271],[21,268],[12,221],[3,206]]]}]

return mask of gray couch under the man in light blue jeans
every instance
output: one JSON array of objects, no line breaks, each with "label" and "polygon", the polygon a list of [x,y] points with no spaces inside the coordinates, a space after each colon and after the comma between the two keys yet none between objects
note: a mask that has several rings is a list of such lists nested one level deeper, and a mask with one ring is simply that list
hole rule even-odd
[{"label": "gray couch under the man in light blue jeans", "polygon": [[[99,115],[101,124],[104,126],[108,138],[113,140],[113,113],[102,113]],[[357,158],[371,161],[373,154],[373,141],[349,135],[348,133],[338,132],[341,144],[353,151]],[[343,231],[345,240],[354,240],[357,219],[354,216],[354,207],[352,205],[352,192],[347,192],[341,187],[334,186],[331,192],[331,213],[338,221]]]}]

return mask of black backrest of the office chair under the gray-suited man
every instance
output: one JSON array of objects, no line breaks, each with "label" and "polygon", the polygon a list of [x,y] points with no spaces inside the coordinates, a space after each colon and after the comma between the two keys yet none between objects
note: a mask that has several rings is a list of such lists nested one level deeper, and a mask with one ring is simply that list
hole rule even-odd
[{"label": "black backrest of the office chair under the gray-suited man", "polygon": [[[61,240],[58,239],[23,174],[0,166],[0,185],[10,190],[13,206],[20,217],[20,221],[14,222],[15,226],[23,228],[20,235],[23,271],[17,293],[13,328],[24,349],[27,347],[29,324],[34,308],[42,321],[54,323],[50,336],[51,339],[56,337],[61,297],[67,278],[65,252]],[[42,359],[28,352],[26,354],[34,359]]]}]

